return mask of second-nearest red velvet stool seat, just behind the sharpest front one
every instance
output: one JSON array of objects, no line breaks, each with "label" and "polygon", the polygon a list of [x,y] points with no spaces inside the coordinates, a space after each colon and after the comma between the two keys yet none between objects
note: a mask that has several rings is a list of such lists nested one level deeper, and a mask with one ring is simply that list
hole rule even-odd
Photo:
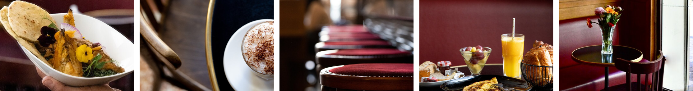
[{"label": "second-nearest red velvet stool seat, just behind the sharpest front one", "polygon": [[320,51],[315,57],[317,71],[358,63],[416,63],[412,53],[398,49],[334,49]]}]

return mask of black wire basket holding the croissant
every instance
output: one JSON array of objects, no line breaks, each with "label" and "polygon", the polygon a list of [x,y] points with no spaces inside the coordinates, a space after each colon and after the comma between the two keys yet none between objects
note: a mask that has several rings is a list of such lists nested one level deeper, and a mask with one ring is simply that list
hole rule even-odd
[{"label": "black wire basket holding the croissant", "polygon": [[525,78],[525,81],[532,83],[534,87],[538,89],[553,89],[553,66],[539,66],[522,63],[522,65],[520,65],[520,69],[522,70],[522,77]]}]

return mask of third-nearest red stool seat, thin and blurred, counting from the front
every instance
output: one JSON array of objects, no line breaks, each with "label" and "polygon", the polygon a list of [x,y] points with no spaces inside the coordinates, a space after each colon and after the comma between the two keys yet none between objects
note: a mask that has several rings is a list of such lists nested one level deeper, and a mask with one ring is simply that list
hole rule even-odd
[{"label": "third-nearest red stool seat, thin and blurred, counting from the front", "polygon": [[315,52],[332,49],[364,49],[364,48],[395,48],[385,40],[359,40],[344,42],[318,42],[315,44]]}]

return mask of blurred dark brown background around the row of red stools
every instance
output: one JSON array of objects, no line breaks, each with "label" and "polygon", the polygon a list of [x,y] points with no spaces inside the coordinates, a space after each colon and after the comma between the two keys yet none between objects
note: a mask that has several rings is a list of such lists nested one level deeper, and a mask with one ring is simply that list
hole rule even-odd
[{"label": "blurred dark brown background around the row of red stools", "polygon": [[[282,90],[320,90],[315,44],[320,42],[318,33],[324,26],[362,25],[371,33],[388,33],[378,35],[398,49],[413,52],[414,6],[414,1],[408,0],[280,0],[277,86]],[[411,36],[401,40],[407,43],[394,40],[396,31]]]}]

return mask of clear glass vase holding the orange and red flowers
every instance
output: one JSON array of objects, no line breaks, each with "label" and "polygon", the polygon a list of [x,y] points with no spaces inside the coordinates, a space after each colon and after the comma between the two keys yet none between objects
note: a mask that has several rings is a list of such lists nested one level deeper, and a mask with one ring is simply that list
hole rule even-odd
[{"label": "clear glass vase holding the orange and red flowers", "polygon": [[614,26],[599,26],[602,31],[602,54],[611,54],[613,49],[611,49],[613,41],[613,29]]}]

